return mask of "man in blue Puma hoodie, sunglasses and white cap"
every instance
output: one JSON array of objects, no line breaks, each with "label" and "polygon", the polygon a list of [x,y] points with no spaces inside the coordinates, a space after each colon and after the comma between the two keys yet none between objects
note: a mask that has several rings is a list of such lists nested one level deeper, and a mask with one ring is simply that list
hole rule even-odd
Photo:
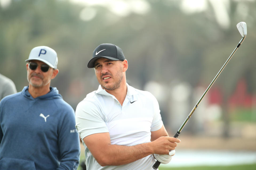
[{"label": "man in blue Puma hoodie, sunglasses and white cap", "polygon": [[57,53],[38,46],[26,61],[29,86],[0,102],[0,169],[75,170],[80,155],[75,113],[50,87],[59,72]]}]

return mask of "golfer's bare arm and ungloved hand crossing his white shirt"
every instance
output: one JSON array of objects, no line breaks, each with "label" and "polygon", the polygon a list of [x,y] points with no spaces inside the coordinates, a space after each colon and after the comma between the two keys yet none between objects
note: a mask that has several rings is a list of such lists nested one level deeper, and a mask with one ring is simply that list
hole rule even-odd
[{"label": "golfer's bare arm and ungloved hand crossing his white shirt", "polygon": [[134,146],[111,145],[109,133],[96,133],[83,138],[93,157],[101,166],[124,165],[151,154],[169,154],[179,139],[162,136],[152,142]]}]

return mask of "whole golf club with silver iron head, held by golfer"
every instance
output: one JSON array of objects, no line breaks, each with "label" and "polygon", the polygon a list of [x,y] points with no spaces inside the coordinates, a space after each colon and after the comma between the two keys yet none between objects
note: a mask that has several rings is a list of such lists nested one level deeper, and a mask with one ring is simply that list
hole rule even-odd
[{"label": "whole golf club with silver iron head, held by golfer", "polygon": [[[192,111],[189,113],[189,116],[186,118],[186,120],[183,122],[183,124],[181,125],[181,127],[179,128],[179,130],[176,132],[176,134],[173,136],[174,138],[177,138],[179,136],[179,134],[181,133],[182,129],[184,128],[184,126],[186,125],[187,121],[189,120],[189,118],[192,116],[192,114],[194,113],[195,109],[197,109],[199,103],[201,102],[201,100],[203,99],[203,97],[206,95],[206,93],[209,91],[209,89],[211,88],[211,86],[213,85],[213,83],[215,82],[215,80],[218,78],[219,74],[221,74],[221,71],[224,69],[224,67],[227,65],[227,63],[229,62],[229,60],[231,59],[231,57],[234,55],[234,53],[236,52],[236,50],[238,49],[238,47],[243,43],[246,35],[247,35],[247,27],[246,27],[246,23],[245,22],[239,22],[237,24],[237,29],[239,31],[239,33],[242,36],[242,39],[240,40],[240,42],[238,43],[237,47],[235,48],[235,50],[231,53],[231,55],[229,56],[229,58],[227,59],[227,61],[224,63],[224,65],[221,67],[221,69],[219,70],[218,74],[215,76],[215,78],[213,79],[213,81],[211,82],[211,84],[208,86],[208,88],[206,89],[206,91],[203,93],[202,97],[198,100],[197,104],[195,105],[195,107],[192,109]],[[161,163],[157,160],[155,162],[155,164],[153,165],[153,169],[157,169],[159,167]]]}]

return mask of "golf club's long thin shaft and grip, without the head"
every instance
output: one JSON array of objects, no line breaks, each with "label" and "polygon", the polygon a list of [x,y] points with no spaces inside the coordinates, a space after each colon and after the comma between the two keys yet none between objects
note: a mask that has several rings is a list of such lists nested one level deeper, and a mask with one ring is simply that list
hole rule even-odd
[{"label": "golf club's long thin shaft and grip, without the head", "polygon": [[[187,121],[189,120],[189,118],[192,116],[192,114],[194,113],[195,109],[197,109],[199,103],[202,101],[203,97],[206,95],[206,93],[209,91],[209,89],[211,88],[211,86],[213,85],[213,83],[215,82],[215,80],[218,78],[219,74],[221,74],[222,70],[224,69],[224,67],[227,65],[227,63],[229,62],[229,60],[231,59],[231,57],[234,55],[234,53],[236,52],[236,50],[238,49],[238,47],[242,44],[243,40],[245,39],[245,37],[243,37],[240,42],[238,43],[237,47],[234,49],[234,51],[231,53],[231,55],[229,56],[229,58],[227,59],[227,61],[224,63],[224,65],[221,67],[221,69],[219,70],[218,74],[214,77],[213,81],[211,82],[211,84],[207,87],[206,91],[203,93],[202,97],[198,100],[197,104],[195,105],[195,107],[192,109],[192,111],[189,113],[189,116],[186,118],[186,120],[183,122],[183,124],[181,125],[181,127],[179,128],[179,130],[176,132],[176,134],[173,136],[174,138],[177,138],[179,136],[179,134],[181,133],[182,129],[184,128],[184,126],[186,125]],[[155,162],[155,164],[153,165],[153,169],[157,169],[159,167],[161,163],[157,160]]]}]

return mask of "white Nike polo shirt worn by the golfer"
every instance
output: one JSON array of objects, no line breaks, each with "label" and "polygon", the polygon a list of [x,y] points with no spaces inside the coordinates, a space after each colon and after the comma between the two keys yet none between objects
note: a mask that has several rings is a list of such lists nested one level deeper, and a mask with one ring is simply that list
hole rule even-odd
[{"label": "white Nike polo shirt worn by the golfer", "polygon": [[[135,89],[128,84],[123,105],[99,85],[97,91],[87,94],[77,105],[75,120],[75,128],[82,141],[88,135],[109,132],[111,144],[126,146],[150,142],[150,131],[159,130],[163,125],[155,97],[150,92]],[[153,169],[155,159],[152,155],[126,165],[102,167],[84,142],[83,145],[87,170]]]}]

